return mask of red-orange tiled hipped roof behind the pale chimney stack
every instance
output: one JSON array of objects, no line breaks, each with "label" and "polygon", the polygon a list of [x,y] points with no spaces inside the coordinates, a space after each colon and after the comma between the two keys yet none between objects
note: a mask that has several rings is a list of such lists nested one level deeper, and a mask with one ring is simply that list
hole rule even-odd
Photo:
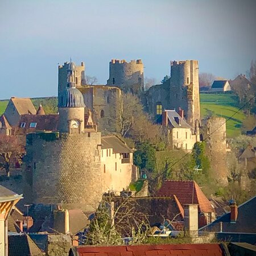
[{"label": "red-orange tiled hipped roof behind the pale chimney stack", "polygon": [[199,188],[195,181],[164,181],[162,187],[156,192],[158,196],[175,195],[184,204],[198,204],[200,212],[214,212],[210,201]]}]

